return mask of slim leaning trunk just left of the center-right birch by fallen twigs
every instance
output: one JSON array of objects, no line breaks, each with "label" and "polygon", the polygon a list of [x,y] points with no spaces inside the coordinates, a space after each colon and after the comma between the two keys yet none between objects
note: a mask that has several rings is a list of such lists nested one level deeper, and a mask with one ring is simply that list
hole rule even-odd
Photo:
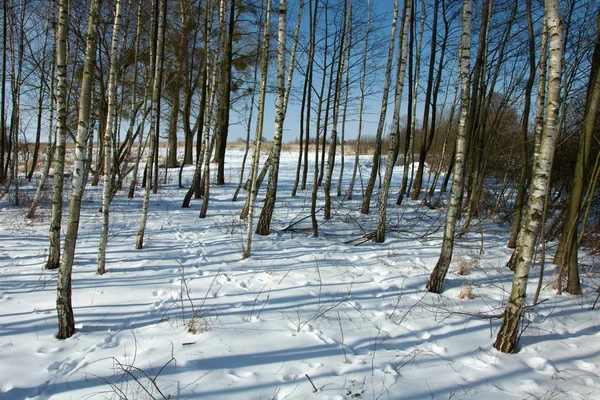
[{"label": "slim leaning trunk just left of the center-right birch by fallen twigs", "polygon": [[396,41],[396,24],[398,22],[398,0],[394,0],[394,15],[392,17],[392,32],[390,34],[390,44],[388,48],[387,65],[385,67],[385,79],[383,81],[383,94],[381,97],[381,108],[379,111],[379,123],[377,125],[377,133],[375,134],[375,154],[373,154],[373,166],[371,168],[371,175],[369,176],[369,182],[365,190],[363,197],[362,208],[360,210],[363,214],[368,214],[371,207],[371,196],[373,194],[373,188],[375,187],[375,178],[377,178],[377,172],[379,171],[379,162],[381,159],[381,137],[383,135],[383,128],[385,126],[385,116],[387,113],[388,95],[390,92],[390,77],[392,75],[392,61],[394,58],[394,47]]}]

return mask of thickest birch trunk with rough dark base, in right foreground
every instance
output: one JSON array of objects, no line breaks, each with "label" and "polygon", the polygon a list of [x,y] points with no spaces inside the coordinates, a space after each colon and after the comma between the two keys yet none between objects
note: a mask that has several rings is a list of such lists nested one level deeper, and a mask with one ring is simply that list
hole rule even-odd
[{"label": "thickest birch trunk with rough dark base, in right foreground", "polygon": [[546,101],[546,119],[541,138],[539,154],[534,160],[531,193],[525,206],[523,223],[517,240],[518,257],[512,289],[502,325],[494,347],[503,353],[518,351],[519,325],[527,290],[529,267],[535,251],[544,208],[544,198],[549,185],[550,170],[554,156],[556,137],[558,136],[558,111],[560,105],[560,85],[563,60],[563,26],[560,18],[558,0],[545,0],[545,19],[550,38],[548,57],[548,97]]}]

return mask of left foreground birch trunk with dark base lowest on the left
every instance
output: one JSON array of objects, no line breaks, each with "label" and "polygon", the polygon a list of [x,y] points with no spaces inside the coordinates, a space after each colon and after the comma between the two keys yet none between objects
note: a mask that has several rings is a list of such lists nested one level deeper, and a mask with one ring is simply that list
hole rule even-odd
[{"label": "left foreground birch trunk with dark base lowest on the left", "polygon": [[81,214],[81,200],[85,190],[86,168],[85,164],[91,162],[87,159],[88,134],[90,132],[90,114],[92,90],[94,88],[94,69],[96,67],[96,39],[98,35],[98,0],[90,2],[90,14],[86,39],[85,62],[83,79],[81,81],[81,94],[79,96],[79,116],[77,123],[77,142],[75,147],[75,161],[73,165],[73,183],[71,199],[69,201],[69,218],[65,234],[65,248],[58,270],[58,289],[56,296],[56,313],[58,316],[59,339],[67,339],[75,333],[75,318],[71,304],[71,272],[75,258],[75,246],[79,233],[79,217]]}]

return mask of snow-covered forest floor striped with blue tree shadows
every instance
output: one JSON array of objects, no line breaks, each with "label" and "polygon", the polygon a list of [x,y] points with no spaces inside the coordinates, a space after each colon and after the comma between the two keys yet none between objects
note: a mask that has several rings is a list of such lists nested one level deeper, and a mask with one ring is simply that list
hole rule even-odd
[{"label": "snow-covered forest floor striped with blue tree shadows", "polygon": [[[273,233],[255,235],[242,260],[244,192],[231,201],[241,153],[228,157],[229,183],[211,189],[206,219],[198,200],[181,208],[186,189],[169,173],[151,197],[143,250],[134,249],[141,190],[120,193],[104,276],[95,274],[101,188],[86,191],[68,340],[55,338],[56,272],[43,269],[47,204],[29,221],[0,203],[0,399],[600,398],[598,259],[586,261],[596,269],[582,271],[581,297],[556,296],[548,266],[522,350],[501,354],[492,347],[500,320],[475,314],[500,314],[507,301],[506,225],[484,221],[457,239],[445,291],[430,294],[444,209],[393,205],[398,167],[384,244],[345,243],[376,223],[359,213],[360,182],[353,200],[334,197],[333,219],[320,217],[311,237],[310,191],[290,196],[297,154],[284,153]],[[468,285],[474,299],[460,299]]]}]

